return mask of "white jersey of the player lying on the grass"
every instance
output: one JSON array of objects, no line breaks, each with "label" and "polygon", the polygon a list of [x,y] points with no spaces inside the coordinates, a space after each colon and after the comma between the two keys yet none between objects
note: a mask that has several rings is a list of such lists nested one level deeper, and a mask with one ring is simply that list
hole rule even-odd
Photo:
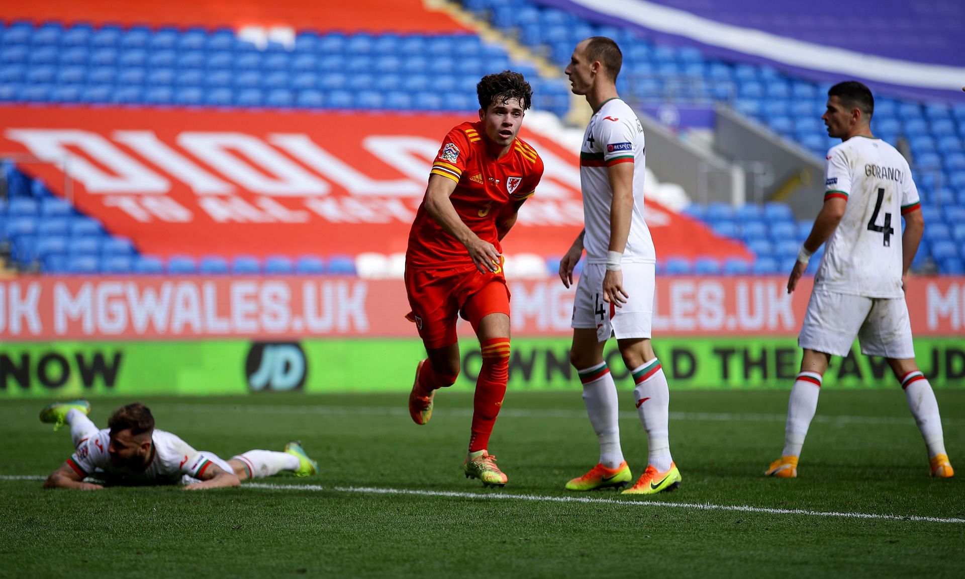
[{"label": "white jersey of the player lying on the grass", "polygon": [[97,431],[96,436],[82,441],[68,459],[70,468],[82,477],[100,478],[108,484],[133,486],[177,484],[183,475],[201,478],[211,465],[205,456],[178,436],[155,428],[148,468],[138,472],[116,467],[111,464],[107,451],[110,438],[110,429],[104,428]]}]

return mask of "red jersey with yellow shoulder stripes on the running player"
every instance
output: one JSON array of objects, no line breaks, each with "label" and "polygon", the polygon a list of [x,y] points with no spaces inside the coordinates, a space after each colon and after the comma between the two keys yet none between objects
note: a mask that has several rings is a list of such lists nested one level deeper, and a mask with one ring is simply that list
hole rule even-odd
[{"label": "red jersey with yellow shoulder stripes on the running player", "polygon": [[[502,159],[486,151],[483,122],[463,123],[449,131],[432,161],[433,175],[455,181],[449,197],[455,213],[482,239],[502,253],[496,219],[511,203],[534,193],[542,177],[542,159],[520,138]],[[423,200],[409,231],[406,262],[417,266],[472,265],[466,247],[439,226]]]}]

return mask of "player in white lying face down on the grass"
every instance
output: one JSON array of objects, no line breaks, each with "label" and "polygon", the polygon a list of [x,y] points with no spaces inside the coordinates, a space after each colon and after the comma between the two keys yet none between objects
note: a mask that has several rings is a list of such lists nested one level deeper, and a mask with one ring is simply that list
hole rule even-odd
[{"label": "player in white lying face down on the grass", "polygon": [[[297,442],[284,452],[249,450],[222,460],[213,452],[195,450],[179,437],[154,428],[151,409],[140,402],[114,411],[107,428],[97,429],[87,418],[87,400],[50,404],[41,421],[60,430],[70,426],[76,451],[43,483],[45,488],[101,489],[109,486],[178,484],[199,490],[237,486],[246,478],[265,478],[282,471],[308,477],[318,471],[316,461]],[[102,481],[86,482],[85,478]]]}]

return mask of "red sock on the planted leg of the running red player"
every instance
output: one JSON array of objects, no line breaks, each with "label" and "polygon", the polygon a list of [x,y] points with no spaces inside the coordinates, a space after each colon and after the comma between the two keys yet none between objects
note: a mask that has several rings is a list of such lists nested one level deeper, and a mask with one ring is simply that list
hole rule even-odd
[{"label": "red sock on the planted leg of the running red player", "polygon": [[495,337],[483,340],[483,369],[476,381],[476,397],[473,400],[472,436],[469,451],[486,449],[492,426],[503,406],[506,382],[510,379],[510,338]]}]

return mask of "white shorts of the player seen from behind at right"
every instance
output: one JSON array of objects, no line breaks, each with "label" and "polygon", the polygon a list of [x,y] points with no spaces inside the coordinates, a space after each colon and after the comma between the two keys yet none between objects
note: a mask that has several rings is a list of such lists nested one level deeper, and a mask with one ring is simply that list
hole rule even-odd
[{"label": "white shorts of the player seen from behind at right", "polygon": [[851,351],[855,336],[866,356],[915,358],[904,298],[866,298],[814,290],[798,345],[843,357]]}]

